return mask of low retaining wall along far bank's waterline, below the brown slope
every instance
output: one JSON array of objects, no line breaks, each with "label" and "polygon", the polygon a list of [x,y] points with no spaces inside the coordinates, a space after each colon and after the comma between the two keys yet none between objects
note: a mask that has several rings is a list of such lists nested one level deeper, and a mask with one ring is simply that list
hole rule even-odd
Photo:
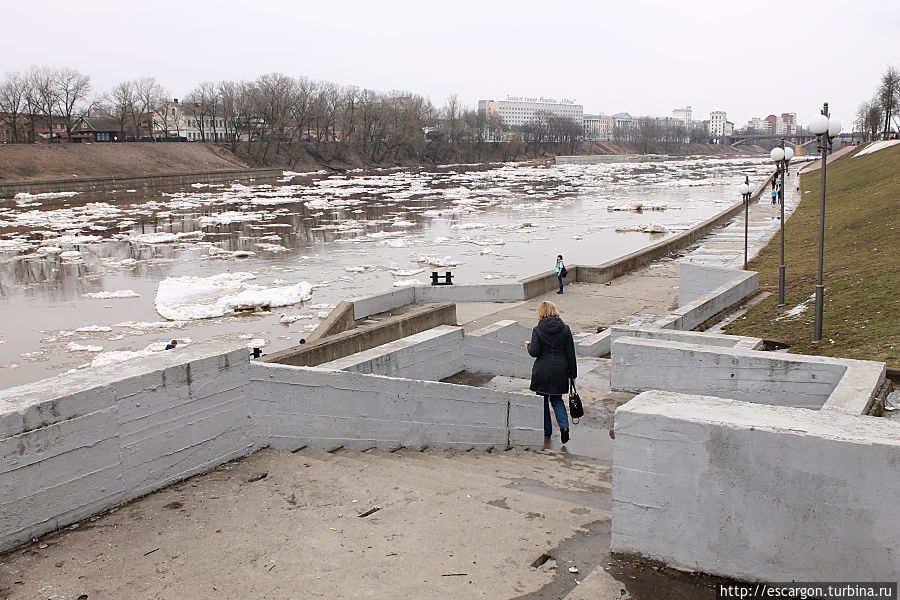
[{"label": "low retaining wall along far bank's waterline, below the brown slope", "polygon": [[0,183],[0,198],[12,198],[16,194],[23,192],[28,194],[44,194],[48,192],[99,192],[131,188],[181,186],[191,183],[228,183],[235,180],[281,177],[283,173],[284,171],[282,169],[234,169],[228,171],[141,175],[138,177],[96,177],[73,180]]}]

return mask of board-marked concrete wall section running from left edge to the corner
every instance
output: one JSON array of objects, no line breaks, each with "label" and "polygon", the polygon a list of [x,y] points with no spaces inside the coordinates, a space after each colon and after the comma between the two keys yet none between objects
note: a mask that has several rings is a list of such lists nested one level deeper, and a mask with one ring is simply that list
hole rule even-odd
[{"label": "board-marked concrete wall section running from left edge to the corner", "polygon": [[251,452],[248,377],[195,346],[0,392],[0,550]]}]

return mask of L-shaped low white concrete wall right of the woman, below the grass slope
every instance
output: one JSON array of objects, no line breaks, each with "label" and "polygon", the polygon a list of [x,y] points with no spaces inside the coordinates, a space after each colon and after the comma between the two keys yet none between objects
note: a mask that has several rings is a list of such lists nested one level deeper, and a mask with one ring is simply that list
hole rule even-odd
[{"label": "L-shaped low white concrete wall right of the woman, below the grass slope", "polygon": [[884,381],[873,361],[716,348],[621,337],[610,387],[664,390],[845,414],[865,414]]}]

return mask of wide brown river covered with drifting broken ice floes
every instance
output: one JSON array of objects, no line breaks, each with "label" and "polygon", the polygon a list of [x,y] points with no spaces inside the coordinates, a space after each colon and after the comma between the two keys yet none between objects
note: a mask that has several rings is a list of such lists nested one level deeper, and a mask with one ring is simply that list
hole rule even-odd
[{"label": "wide brown river covered with drifting broken ice floes", "polygon": [[457,165],[0,200],[0,388],[173,338],[286,348],[337,302],[432,270],[484,283],[557,254],[599,264],[709,218],[769,170],[768,157]]}]

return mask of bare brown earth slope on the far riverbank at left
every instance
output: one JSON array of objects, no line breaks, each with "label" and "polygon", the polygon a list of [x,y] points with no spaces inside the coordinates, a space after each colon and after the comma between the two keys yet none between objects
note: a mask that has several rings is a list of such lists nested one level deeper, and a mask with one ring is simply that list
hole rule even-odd
[{"label": "bare brown earth slope on the far riverbank at left", "polygon": [[228,149],[195,142],[0,145],[0,183],[245,168]]}]

